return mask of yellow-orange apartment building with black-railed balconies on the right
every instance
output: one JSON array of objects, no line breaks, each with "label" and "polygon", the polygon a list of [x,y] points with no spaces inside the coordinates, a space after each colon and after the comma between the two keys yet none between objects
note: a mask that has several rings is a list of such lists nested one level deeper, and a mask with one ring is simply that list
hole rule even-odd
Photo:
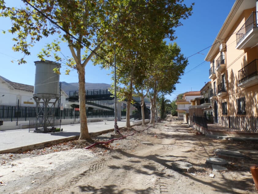
[{"label": "yellow-orange apartment building with black-railed balconies on the right", "polygon": [[236,0],[205,60],[215,117],[258,117],[258,0]]}]

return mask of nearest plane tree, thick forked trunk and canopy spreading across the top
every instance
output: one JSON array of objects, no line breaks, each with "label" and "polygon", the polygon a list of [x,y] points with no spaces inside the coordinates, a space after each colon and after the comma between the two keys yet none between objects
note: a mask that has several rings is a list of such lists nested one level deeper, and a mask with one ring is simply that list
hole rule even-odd
[{"label": "nearest plane tree, thick forked trunk and canopy spreading across the top", "polygon": [[[66,65],[77,71],[79,80],[79,139],[87,140],[91,138],[85,107],[85,66],[102,44],[111,46],[114,42],[119,42],[123,50],[131,51],[128,56],[138,56],[138,53],[141,53],[139,48],[147,42],[156,44],[163,38],[173,40],[174,27],[182,25],[180,19],[188,18],[192,11],[192,6],[187,7],[182,0],[23,2],[24,6],[17,8],[8,7],[4,0],[0,0],[0,16],[10,18],[12,27],[8,31],[16,36],[13,38],[13,50],[24,53],[24,56],[30,55],[32,47],[37,42],[46,42],[46,38],[51,36],[55,40],[47,43],[38,57],[42,60],[54,57],[55,61],[62,61],[62,57],[59,56],[60,42],[66,43],[71,53]],[[89,47],[93,49],[88,49]],[[105,46],[104,48],[108,49]],[[109,60],[105,62],[111,65]],[[132,61],[134,64],[136,62],[137,60]],[[18,63],[26,63],[25,57],[19,59]],[[60,73],[59,69],[54,70]],[[69,72],[70,69],[66,69],[66,74]]]}]

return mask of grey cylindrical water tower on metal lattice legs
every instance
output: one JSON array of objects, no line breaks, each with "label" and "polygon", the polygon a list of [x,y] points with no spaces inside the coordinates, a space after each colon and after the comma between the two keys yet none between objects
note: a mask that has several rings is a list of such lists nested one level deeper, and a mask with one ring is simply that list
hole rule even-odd
[{"label": "grey cylindrical water tower on metal lattice legs", "polygon": [[36,73],[33,99],[37,105],[35,132],[53,131],[55,104],[59,100],[59,74],[53,69],[61,64],[53,61],[35,61]]}]

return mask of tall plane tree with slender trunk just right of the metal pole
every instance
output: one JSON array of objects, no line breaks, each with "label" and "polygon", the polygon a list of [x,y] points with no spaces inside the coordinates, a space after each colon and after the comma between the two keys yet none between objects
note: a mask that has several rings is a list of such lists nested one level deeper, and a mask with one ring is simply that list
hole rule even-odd
[{"label": "tall plane tree with slender trunk just right of the metal pole", "polygon": [[[106,60],[96,57],[95,64],[102,64],[102,68],[110,68],[113,61],[113,48],[116,43],[117,80],[121,84],[118,97],[127,99],[126,127],[130,127],[130,104],[135,85],[141,82],[147,73],[149,60],[158,52],[164,38],[174,40],[174,28],[182,25],[180,19],[191,15],[192,6],[187,7],[183,1],[132,1],[127,9],[134,14],[124,17],[123,25],[115,26],[116,32],[123,32],[120,36],[113,34],[112,41],[105,42],[100,49]],[[123,30],[121,30],[123,29]]]}]

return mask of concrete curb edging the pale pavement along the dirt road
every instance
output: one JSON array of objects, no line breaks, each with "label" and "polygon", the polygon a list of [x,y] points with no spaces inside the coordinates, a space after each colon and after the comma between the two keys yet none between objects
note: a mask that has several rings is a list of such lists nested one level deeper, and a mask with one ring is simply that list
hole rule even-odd
[{"label": "concrete curb edging the pale pavement along the dirt road", "polygon": [[[133,127],[133,126],[135,126],[135,125],[131,125],[131,127]],[[124,127],[119,127],[118,129],[123,129],[123,128]],[[110,133],[113,130],[114,129],[107,129],[107,130],[104,130],[104,131],[89,133],[89,135],[92,136],[92,137],[95,137],[95,136],[102,135],[104,133]],[[61,143],[63,141],[69,141],[69,140],[74,140],[74,139],[78,139],[78,138],[79,138],[79,136],[71,136],[71,137],[65,137],[65,138],[58,139],[58,140],[51,140],[51,141],[46,141],[46,142],[42,142],[42,143],[21,146],[21,147],[18,147],[18,148],[11,148],[11,149],[6,149],[6,150],[0,150],[0,154],[15,153],[15,152],[25,152],[25,151],[33,150],[33,149],[42,149],[42,148],[46,147],[46,145],[49,145],[49,144],[58,144],[58,143]]]}]

